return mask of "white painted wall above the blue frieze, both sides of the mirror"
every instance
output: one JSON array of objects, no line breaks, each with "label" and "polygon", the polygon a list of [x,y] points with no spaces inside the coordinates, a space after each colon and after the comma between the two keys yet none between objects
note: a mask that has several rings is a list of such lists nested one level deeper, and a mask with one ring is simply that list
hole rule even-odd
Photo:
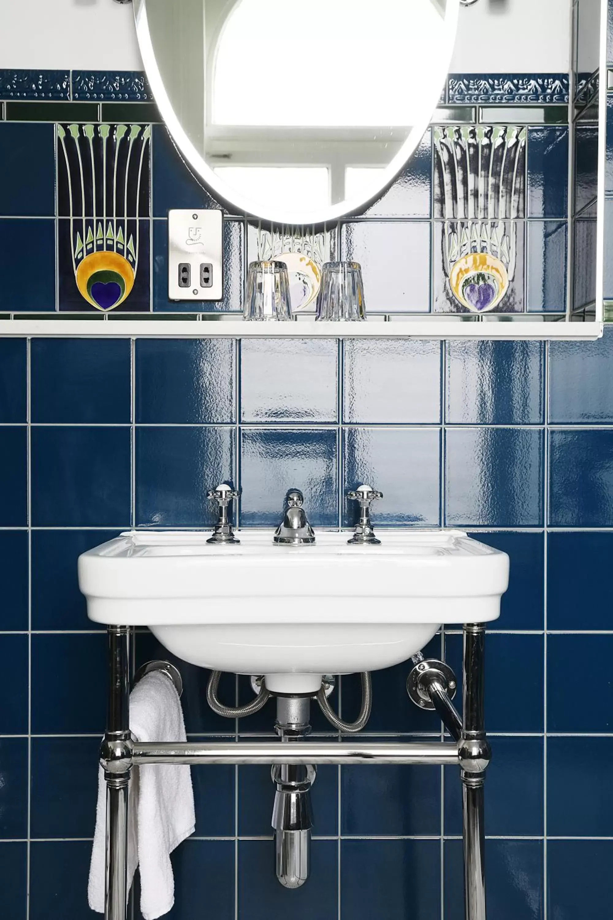
[{"label": "white painted wall above the blue frieze, both sides of the mirror", "polygon": [[[0,67],[142,69],[130,3],[0,0],[0,6]],[[567,71],[569,10],[570,0],[479,0],[463,7],[450,70]]]}]

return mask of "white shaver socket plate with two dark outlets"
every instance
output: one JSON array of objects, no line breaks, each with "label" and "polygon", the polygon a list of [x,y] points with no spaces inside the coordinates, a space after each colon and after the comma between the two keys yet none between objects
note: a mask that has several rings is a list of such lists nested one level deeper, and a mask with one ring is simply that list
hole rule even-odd
[{"label": "white shaver socket plate with two dark outlets", "polygon": [[[168,297],[208,301],[223,297],[223,218],[221,211],[168,212]],[[210,286],[203,286],[201,266],[210,266]],[[189,284],[179,284],[181,266],[189,266]]]}]

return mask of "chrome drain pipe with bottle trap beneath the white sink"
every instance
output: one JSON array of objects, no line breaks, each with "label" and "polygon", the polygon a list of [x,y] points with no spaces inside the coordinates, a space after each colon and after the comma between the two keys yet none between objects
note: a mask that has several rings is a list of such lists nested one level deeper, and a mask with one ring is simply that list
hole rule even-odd
[{"label": "chrome drain pipe with bottle trap beneath the white sink", "polygon": [[[275,730],[282,742],[300,741],[311,731],[311,699],[278,696]],[[312,765],[278,764],[272,767],[277,787],[272,812],[275,829],[275,869],[284,888],[300,888],[311,869]]]}]

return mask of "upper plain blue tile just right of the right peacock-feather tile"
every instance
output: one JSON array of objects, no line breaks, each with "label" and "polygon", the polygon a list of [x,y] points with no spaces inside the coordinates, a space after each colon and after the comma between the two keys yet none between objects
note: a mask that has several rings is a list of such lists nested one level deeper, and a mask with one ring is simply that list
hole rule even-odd
[{"label": "upper plain blue tile just right of the right peacock-feather tile", "polygon": [[568,128],[528,128],[528,217],[566,217]]}]

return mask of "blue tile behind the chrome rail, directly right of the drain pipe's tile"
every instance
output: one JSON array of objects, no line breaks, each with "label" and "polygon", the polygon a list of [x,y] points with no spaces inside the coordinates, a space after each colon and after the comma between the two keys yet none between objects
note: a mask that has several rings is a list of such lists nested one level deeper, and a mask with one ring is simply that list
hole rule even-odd
[{"label": "blue tile behind the chrome rail, directly right of the drain pipe's tile", "polygon": [[[378,738],[377,741],[397,742],[398,739]],[[440,768],[342,767],[341,833],[356,837],[440,834]]]}]

